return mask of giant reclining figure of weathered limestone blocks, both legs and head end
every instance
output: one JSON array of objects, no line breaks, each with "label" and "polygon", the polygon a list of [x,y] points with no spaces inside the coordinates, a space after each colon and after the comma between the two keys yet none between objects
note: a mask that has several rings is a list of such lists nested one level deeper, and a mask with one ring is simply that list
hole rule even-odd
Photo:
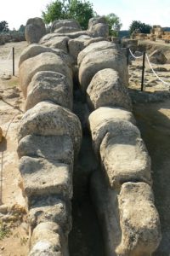
[{"label": "giant reclining figure of weathered limestone blocks, both legs and head end", "polygon": [[[126,57],[107,36],[102,17],[89,20],[87,31],[75,20],[55,20],[48,34],[41,19],[27,22],[18,154],[29,256],[69,255],[72,176],[87,130],[98,161],[89,178],[105,255],[149,256],[161,241],[150,156],[127,92]],[[81,121],[73,113],[76,98],[83,99]]]}]

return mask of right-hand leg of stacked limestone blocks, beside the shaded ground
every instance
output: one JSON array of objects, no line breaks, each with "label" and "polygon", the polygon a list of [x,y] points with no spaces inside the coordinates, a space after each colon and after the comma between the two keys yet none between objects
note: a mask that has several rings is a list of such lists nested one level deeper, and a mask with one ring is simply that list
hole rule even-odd
[{"label": "right-hand leg of stacked limestone blocks, beside the shaded ground", "polygon": [[[150,156],[133,118],[124,56],[112,43],[90,44],[78,55],[88,124],[101,163],[92,197],[105,237],[105,255],[142,256],[161,239],[151,189]],[[117,223],[118,222],[118,223]]]}]

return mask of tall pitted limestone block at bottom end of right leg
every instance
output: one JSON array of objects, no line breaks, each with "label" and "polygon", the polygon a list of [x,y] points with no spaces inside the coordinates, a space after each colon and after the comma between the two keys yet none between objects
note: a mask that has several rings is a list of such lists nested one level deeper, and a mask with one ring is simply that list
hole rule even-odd
[{"label": "tall pitted limestone block at bottom end of right leg", "polygon": [[118,196],[122,242],[117,255],[149,256],[161,241],[154,196],[146,183],[124,183]]}]

